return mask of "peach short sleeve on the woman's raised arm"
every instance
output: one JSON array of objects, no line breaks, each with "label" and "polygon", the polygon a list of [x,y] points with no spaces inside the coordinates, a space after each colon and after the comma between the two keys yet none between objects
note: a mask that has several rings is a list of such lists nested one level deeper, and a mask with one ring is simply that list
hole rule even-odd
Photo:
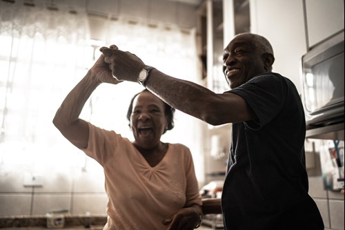
[{"label": "peach short sleeve on the woman's raised arm", "polygon": [[111,157],[110,154],[116,152],[116,148],[123,138],[114,131],[107,131],[90,123],[88,123],[88,127],[88,147],[81,150],[103,166]]}]

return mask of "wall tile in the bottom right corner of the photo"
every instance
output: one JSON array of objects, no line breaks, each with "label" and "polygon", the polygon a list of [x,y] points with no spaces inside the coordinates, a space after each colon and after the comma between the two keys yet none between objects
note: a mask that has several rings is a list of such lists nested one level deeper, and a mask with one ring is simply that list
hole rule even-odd
[{"label": "wall tile in the bottom right corner of the photo", "polygon": [[329,200],[331,229],[344,230],[344,200]]}]

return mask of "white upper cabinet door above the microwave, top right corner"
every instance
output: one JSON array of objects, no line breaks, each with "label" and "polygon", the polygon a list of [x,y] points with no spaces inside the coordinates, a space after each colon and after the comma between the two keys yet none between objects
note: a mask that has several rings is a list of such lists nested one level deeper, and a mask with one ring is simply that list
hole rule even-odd
[{"label": "white upper cabinet door above the microwave, top right corner", "polygon": [[305,0],[305,11],[309,49],[344,30],[344,0]]}]

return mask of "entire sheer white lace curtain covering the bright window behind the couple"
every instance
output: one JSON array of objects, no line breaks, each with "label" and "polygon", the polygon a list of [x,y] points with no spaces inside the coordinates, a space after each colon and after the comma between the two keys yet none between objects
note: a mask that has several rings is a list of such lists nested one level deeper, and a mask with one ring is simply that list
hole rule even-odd
[{"label": "entire sheer white lace curtain covering the bright window behind the couple", "polygon": [[[197,82],[193,30],[120,17],[104,19],[106,41],[92,41],[83,10],[48,10],[44,1],[34,4],[0,1],[0,164],[84,166],[84,155],[62,137],[52,118],[99,57],[99,46],[116,44],[164,73]],[[130,82],[101,84],[81,116],[131,140],[126,112],[132,95],[142,89]],[[203,168],[199,127],[197,119],[177,111],[175,128],[162,137],[190,147],[197,173]]]}]

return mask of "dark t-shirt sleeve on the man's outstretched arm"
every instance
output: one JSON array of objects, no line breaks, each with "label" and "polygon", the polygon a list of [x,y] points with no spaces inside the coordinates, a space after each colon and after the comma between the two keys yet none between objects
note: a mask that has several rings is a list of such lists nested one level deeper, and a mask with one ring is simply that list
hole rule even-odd
[{"label": "dark t-shirt sleeve on the man's outstretched arm", "polygon": [[283,77],[270,73],[253,77],[246,84],[228,92],[244,98],[253,110],[256,119],[246,122],[253,129],[259,129],[274,119],[282,111],[286,98]]}]

